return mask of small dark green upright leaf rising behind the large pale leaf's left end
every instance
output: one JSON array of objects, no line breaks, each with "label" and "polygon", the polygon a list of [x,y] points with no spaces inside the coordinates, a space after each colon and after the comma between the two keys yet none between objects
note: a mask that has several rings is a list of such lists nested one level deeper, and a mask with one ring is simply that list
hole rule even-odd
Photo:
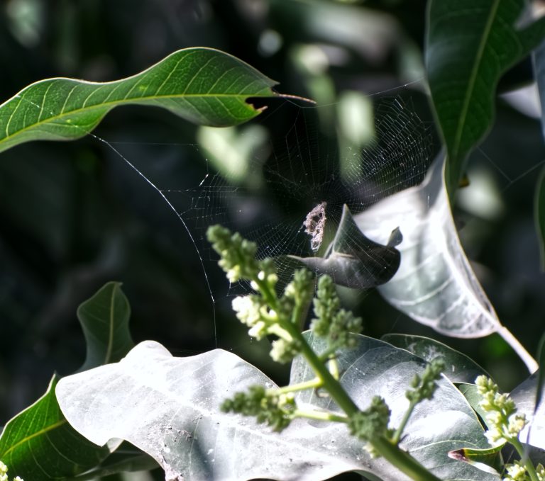
[{"label": "small dark green upright leaf rising behind the large pale leaf's left end", "polygon": [[133,346],[128,319],[131,307],[121,283],[106,283],[77,309],[87,343],[87,357],[79,370],[119,361]]}]

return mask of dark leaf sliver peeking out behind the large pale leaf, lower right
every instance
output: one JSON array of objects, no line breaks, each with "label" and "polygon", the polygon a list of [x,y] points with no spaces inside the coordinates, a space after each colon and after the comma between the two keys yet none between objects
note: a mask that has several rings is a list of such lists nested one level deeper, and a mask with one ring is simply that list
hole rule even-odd
[{"label": "dark leaf sliver peeking out behind the large pale leaf, lower right", "polygon": [[385,341],[400,349],[407,349],[414,356],[431,361],[441,358],[445,363],[444,375],[451,383],[474,383],[478,375],[490,375],[475,361],[456,349],[446,346],[442,342],[429,337],[410,336],[409,334],[386,334],[382,336]]}]

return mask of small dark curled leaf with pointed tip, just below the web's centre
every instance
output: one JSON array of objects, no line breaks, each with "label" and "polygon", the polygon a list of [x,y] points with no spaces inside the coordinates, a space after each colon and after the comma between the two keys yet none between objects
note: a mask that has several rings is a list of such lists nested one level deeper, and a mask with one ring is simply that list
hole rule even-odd
[{"label": "small dark curled leaf with pointed tip, just below the web's centre", "polygon": [[400,252],[395,249],[400,242],[399,230],[390,231],[385,245],[373,242],[358,229],[345,204],[335,238],[324,257],[282,256],[282,259],[292,265],[307,266],[317,274],[328,274],[336,284],[368,289],[389,281],[400,265]]}]

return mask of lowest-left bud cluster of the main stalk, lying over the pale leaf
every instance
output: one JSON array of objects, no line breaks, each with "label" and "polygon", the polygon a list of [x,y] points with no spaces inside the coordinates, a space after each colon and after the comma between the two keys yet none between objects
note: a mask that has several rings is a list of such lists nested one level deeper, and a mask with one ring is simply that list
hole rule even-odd
[{"label": "lowest-left bud cluster of the main stalk, lying over the pale leaf", "polygon": [[251,386],[248,392],[237,392],[221,404],[223,412],[255,416],[259,423],[268,424],[274,431],[282,431],[290,424],[295,407],[293,393],[278,393],[260,385]]}]

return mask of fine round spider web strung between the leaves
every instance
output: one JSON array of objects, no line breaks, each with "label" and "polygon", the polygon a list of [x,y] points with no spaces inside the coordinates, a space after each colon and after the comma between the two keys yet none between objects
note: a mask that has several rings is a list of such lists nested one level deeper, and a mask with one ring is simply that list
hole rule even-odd
[{"label": "fine round spider web strung between the leaves", "polygon": [[[248,166],[248,183],[209,172],[198,186],[163,189],[195,239],[221,224],[258,244],[258,257],[323,255],[334,237],[343,205],[357,214],[378,200],[420,183],[429,166],[431,138],[424,123],[399,98],[376,109],[375,138],[363,148],[344,147],[321,132],[319,108],[297,108],[280,142],[268,143],[268,157]],[[189,200],[189,207],[184,203]],[[324,242],[317,253],[304,221],[324,203]],[[209,246],[204,259],[216,259]],[[280,261],[280,271],[285,269]],[[287,266],[286,266],[287,267]],[[228,295],[245,291],[231,285]]]}]

